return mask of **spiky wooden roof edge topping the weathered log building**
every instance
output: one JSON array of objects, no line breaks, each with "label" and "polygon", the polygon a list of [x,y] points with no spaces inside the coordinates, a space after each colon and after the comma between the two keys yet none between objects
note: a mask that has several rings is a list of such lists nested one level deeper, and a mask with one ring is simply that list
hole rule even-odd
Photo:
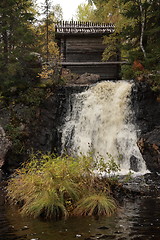
[{"label": "spiky wooden roof edge topping the weathered log building", "polygon": [[113,33],[112,23],[61,21],[55,25],[57,33]]}]

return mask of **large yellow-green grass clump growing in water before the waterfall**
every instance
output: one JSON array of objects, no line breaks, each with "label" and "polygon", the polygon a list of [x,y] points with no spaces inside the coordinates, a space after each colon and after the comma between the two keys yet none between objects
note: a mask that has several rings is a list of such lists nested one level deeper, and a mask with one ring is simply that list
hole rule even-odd
[{"label": "large yellow-green grass clump growing in water before the waterfall", "polygon": [[107,178],[94,173],[99,164],[90,154],[76,158],[32,155],[9,180],[8,198],[20,206],[22,214],[34,218],[111,215],[117,204]]}]

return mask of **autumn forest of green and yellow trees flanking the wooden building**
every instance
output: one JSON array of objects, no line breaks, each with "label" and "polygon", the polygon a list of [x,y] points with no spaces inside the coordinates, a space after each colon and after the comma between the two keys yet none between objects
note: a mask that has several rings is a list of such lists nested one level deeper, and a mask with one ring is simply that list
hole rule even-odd
[{"label": "autumn forest of green and yellow trees flanking the wooden building", "polygon": [[[0,3],[1,95],[39,84],[46,75],[46,66],[40,63],[55,63],[60,58],[54,25],[63,20],[61,6],[44,0],[38,15],[33,0]],[[159,0],[89,0],[78,6],[76,20],[114,23],[115,32],[104,37],[107,48],[102,60],[120,52],[121,59],[129,62],[122,69],[123,78],[149,78],[153,89],[159,90]],[[54,73],[49,70],[50,75]]]}]

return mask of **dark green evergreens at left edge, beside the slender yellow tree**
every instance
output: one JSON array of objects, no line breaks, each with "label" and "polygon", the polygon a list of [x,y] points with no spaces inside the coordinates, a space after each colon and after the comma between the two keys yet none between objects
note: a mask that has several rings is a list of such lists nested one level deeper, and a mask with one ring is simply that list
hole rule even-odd
[{"label": "dark green evergreens at left edge, beside the slender yellow tree", "polygon": [[0,87],[23,85],[35,77],[30,69],[35,51],[32,0],[0,1]]}]

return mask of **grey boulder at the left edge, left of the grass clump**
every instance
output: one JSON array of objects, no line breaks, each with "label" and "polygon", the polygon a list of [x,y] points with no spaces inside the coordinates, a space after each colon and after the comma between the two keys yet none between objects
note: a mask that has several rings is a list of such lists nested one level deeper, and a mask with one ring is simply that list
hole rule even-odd
[{"label": "grey boulder at the left edge, left of the grass clump", "polygon": [[5,156],[11,146],[11,142],[6,137],[6,134],[3,130],[3,128],[0,126],[0,179],[2,178],[2,170],[5,163]]}]

